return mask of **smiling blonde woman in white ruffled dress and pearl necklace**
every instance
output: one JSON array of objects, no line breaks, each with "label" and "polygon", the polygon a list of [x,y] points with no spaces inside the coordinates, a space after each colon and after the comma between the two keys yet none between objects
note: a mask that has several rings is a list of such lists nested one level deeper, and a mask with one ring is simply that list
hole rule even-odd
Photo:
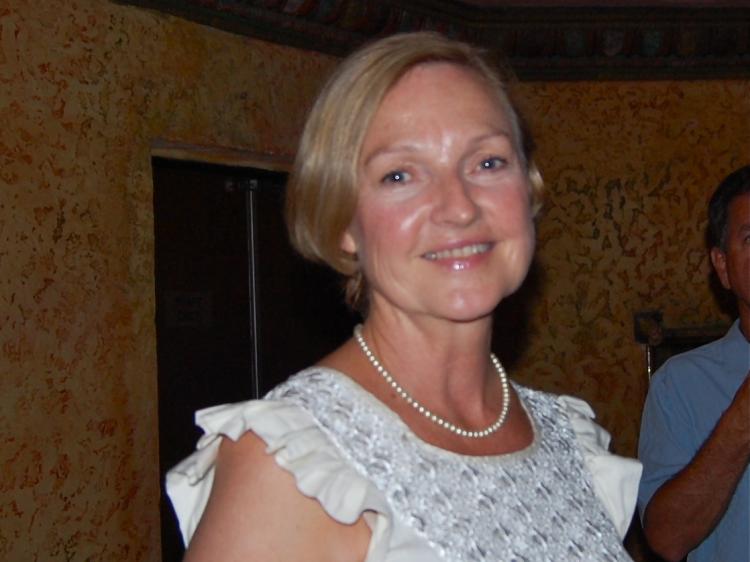
[{"label": "smiling blonde woman in white ruffled dress and pearl necklace", "polygon": [[529,146],[467,45],[404,34],[343,62],[288,222],[364,325],[264,400],[199,413],[168,477],[186,560],[629,559],[639,465],[606,454],[585,403],[509,384],[490,353],[534,249]]}]

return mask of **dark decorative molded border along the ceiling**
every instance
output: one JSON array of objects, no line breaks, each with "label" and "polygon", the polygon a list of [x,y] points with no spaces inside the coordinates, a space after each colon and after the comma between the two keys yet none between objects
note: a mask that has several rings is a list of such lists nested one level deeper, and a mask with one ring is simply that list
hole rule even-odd
[{"label": "dark decorative molded border along the ceiling", "polygon": [[335,56],[391,33],[438,30],[486,47],[526,81],[750,78],[750,5],[479,8],[458,0],[114,1]]}]

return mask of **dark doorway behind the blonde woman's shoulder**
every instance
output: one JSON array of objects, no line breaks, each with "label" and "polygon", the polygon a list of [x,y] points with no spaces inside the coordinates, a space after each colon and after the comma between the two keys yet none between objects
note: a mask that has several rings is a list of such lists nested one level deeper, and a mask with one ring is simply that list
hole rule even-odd
[{"label": "dark doorway behind the blonde woman's shoulder", "polygon": [[357,317],[338,277],[289,246],[285,174],[152,165],[162,560],[177,562],[164,475],[194,450],[194,412],[262,396],[343,342]]}]

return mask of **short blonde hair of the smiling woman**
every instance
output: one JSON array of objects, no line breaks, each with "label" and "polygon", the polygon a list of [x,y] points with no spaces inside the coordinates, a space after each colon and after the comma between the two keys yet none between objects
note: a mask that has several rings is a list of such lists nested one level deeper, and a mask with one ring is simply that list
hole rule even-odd
[{"label": "short blonde hair of the smiling woman", "polygon": [[362,305],[364,283],[357,257],[341,249],[341,240],[356,210],[362,144],[385,95],[409,70],[430,62],[473,70],[497,95],[529,177],[532,212],[536,214],[541,206],[542,178],[531,159],[531,138],[507,90],[508,75],[477,48],[438,33],[401,33],[365,46],[338,66],[318,95],[286,196],[292,246],[304,257],[345,275],[347,302],[354,308]]}]

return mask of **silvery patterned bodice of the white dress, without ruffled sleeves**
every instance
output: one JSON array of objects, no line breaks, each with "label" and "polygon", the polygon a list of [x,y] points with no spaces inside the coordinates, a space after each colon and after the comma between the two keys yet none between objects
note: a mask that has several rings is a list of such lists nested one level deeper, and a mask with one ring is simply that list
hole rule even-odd
[{"label": "silvery patterned bodice of the white dress, without ruffled sleeves", "polygon": [[[534,443],[476,457],[429,445],[384,404],[335,371],[308,369],[267,398],[310,412],[341,454],[440,559],[626,561],[554,396],[515,387]],[[436,556],[436,558],[438,558]]]}]

